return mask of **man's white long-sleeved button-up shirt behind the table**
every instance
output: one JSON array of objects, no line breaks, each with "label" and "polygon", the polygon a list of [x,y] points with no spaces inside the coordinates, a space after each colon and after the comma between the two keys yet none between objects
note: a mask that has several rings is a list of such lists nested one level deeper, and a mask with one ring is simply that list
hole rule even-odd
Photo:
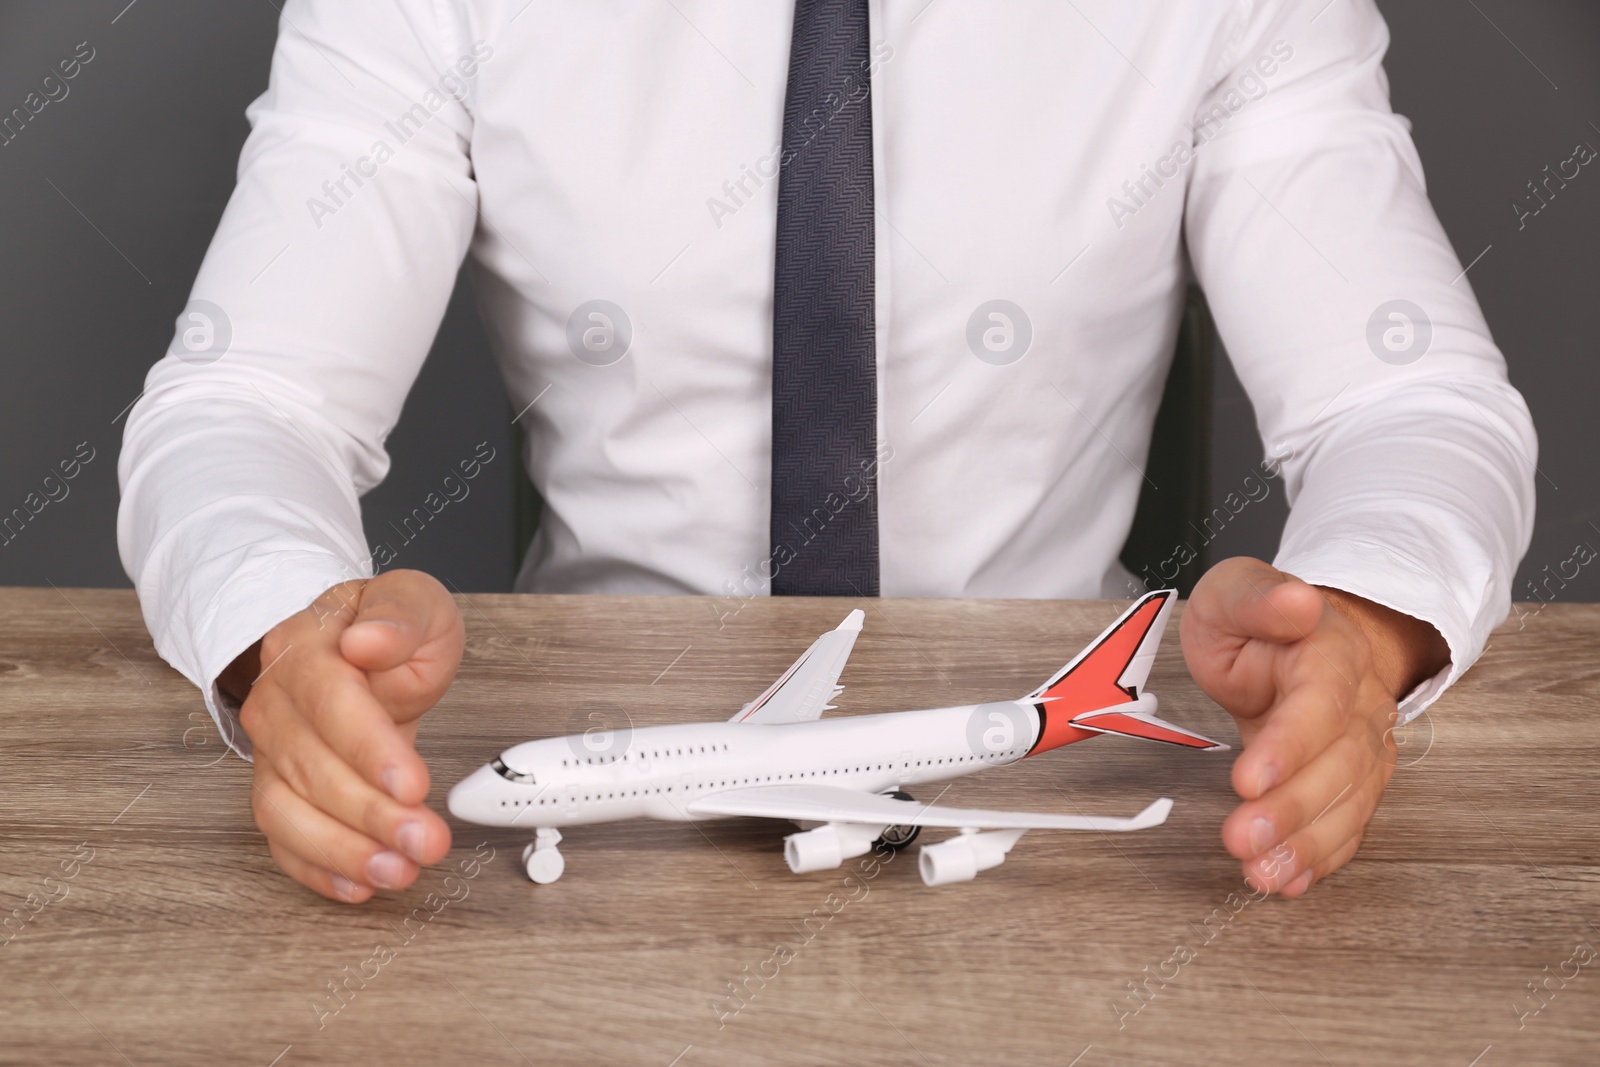
[{"label": "man's white long-sleeved button-up shirt behind the table", "polygon": [[[1507,613],[1536,443],[1371,0],[870,21],[883,595],[1134,592],[1117,555],[1192,264],[1285,458],[1275,565],[1437,625],[1421,710]],[[765,589],[790,27],[771,0],[285,5],[208,304],[120,466],[123,563],[224,737],[248,750],[218,673],[371,574],[357,498],[467,256],[547,504],[517,587]]]}]

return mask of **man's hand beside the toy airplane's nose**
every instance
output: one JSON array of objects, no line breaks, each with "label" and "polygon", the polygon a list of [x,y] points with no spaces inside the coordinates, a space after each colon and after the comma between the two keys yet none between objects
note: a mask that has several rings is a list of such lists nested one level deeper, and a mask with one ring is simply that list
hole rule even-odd
[{"label": "man's hand beside the toy airplane's nose", "polygon": [[416,720],[445,694],[464,640],[443,585],[389,571],[334,585],[218,680],[243,699],[251,809],[291,878],[358,904],[450,851],[450,827],[422,806]]}]

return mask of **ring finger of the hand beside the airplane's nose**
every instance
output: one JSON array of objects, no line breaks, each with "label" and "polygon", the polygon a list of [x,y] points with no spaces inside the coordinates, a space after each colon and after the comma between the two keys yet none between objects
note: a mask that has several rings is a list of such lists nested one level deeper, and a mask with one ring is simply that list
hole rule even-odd
[{"label": "ring finger of the hand beside the airplane's nose", "polygon": [[267,840],[307,865],[376,889],[403,889],[416,881],[416,864],[318,811],[270,768],[258,771],[251,808]]}]

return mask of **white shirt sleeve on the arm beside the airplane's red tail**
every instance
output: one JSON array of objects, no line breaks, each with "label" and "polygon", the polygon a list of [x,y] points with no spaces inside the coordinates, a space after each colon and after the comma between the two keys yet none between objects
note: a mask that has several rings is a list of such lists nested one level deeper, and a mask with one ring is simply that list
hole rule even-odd
[{"label": "white shirt sleeve on the arm beside the airplane's red tail", "polygon": [[1376,6],[1243,6],[1195,117],[1190,259],[1282,462],[1275,566],[1450,645],[1405,721],[1509,611],[1533,530],[1533,421],[1390,110]]}]

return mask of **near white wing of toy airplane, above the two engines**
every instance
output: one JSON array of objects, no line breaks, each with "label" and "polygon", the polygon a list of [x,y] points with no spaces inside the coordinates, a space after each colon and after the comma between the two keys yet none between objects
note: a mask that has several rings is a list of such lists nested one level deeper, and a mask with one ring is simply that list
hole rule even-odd
[{"label": "near white wing of toy airplane, above the two engines", "polygon": [[915,800],[862,793],[842,785],[749,785],[690,801],[690,814],[754,816],[805,822],[925,825],[978,830],[1146,830],[1166,822],[1173,801],[1162,797],[1131,819],[1043,811],[944,808]]}]

